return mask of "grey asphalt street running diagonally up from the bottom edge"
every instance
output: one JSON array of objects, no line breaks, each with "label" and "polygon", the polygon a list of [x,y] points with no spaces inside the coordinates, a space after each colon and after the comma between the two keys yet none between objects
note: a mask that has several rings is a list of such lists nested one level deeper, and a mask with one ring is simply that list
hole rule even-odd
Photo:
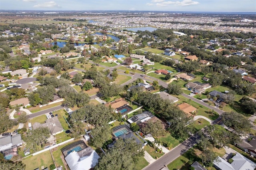
[{"label": "grey asphalt street running diagonally up from the bottom edge", "polygon": [[176,158],[178,158],[180,155],[184,154],[188,149],[190,149],[192,146],[196,144],[196,140],[199,138],[199,136],[196,134],[195,136],[191,136],[175,148],[173,148],[170,152],[167,154],[164,154],[160,158],[158,158],[155,162],[152,164],[149,164],[142,170],[160,170],[164,166],[170,164],[172,161],[174,161]]}]

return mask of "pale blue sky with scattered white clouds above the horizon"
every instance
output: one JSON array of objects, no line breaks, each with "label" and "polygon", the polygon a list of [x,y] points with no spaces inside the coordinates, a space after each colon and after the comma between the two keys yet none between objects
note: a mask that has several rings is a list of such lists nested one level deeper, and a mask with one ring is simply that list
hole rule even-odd
[{"label": "pale blue sky with scattered white clouds above the horizon", "polygon": [[0,9],[256,12],[256,0],[0,0]]}]

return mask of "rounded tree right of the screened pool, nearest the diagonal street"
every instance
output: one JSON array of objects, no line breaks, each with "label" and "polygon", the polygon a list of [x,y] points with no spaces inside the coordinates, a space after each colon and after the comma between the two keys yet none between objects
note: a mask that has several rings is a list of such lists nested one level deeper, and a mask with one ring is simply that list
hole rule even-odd
[{"label": "rounded tree right of the screened pool, nearest the diagonal street", "polygon": [[152,122],[148,121],[145,127],[142,128],[142,132],[145,134],[152,134],[152,136],[164,136],[166,134],[164,130],[164,124],[160,121]]}]

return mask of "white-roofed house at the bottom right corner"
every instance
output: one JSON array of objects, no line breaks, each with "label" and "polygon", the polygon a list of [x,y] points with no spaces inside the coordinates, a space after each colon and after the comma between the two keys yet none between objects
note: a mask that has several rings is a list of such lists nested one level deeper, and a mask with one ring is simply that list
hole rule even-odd
[{"label": "white-roofed house at the bottom right corner", "polygon": [[236,155],[232,157],[232,160],[233,162],[230,164],[218,156],[213,164],[218,170],[254,170],[256,168],[256,163],[242,156],[240,153],[236,153]]}]

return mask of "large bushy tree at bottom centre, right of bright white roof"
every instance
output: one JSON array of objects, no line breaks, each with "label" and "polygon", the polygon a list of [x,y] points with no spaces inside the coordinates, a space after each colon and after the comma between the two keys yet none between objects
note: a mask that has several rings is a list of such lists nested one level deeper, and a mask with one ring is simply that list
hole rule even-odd
[{"label": "large bushy tree at bottom centre, right of bright white roof", "polygon": [[116,140],[113,148],[102,155],[95,170],[133,170],[144,151],[133,138]]}]

